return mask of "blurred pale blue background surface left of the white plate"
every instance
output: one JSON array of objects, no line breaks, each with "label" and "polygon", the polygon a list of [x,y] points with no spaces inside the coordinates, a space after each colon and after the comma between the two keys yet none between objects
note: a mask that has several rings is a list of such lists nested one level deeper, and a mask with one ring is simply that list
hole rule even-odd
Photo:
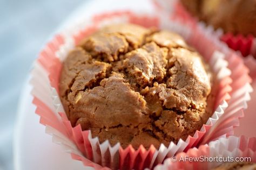
[{"label": "blurred pale blue background surface left of the white plate", "polygon": [[[89,1],[89,0],[87,0]],[[17,104],[33,60],[57,27],[85,1],[0,0],[0,169],[14,169]]]}]

